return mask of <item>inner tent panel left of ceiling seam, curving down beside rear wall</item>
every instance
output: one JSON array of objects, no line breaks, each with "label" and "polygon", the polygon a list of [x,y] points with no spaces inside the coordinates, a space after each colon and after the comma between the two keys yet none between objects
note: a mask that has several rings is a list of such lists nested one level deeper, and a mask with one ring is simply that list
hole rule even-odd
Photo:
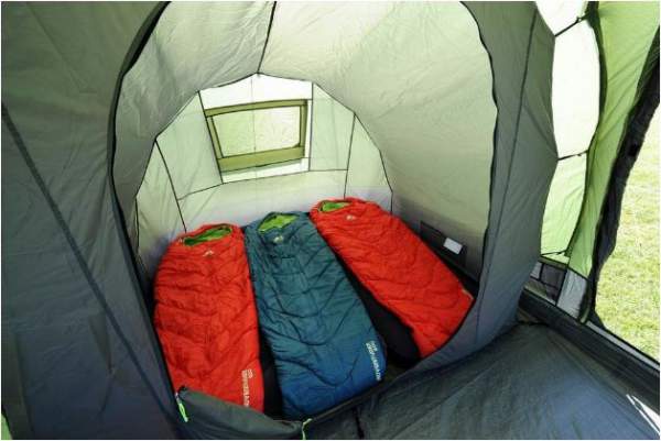
[{"label": "inner tent panel left of ceiling seam, curving down beside rear wall", "polygon": [[113,170],[133,245],[136,196],[154,139],[198,90],[257,71],[271,10],[266,2],[170,3],[123,78]]}]

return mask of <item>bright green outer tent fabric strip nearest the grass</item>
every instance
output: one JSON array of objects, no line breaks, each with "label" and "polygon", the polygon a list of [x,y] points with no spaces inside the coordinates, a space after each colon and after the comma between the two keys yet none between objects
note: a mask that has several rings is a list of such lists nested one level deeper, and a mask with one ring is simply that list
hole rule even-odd
[{"label": "bright green outer tent fabric strip nearest the grass", "polygon": [[[647,55],[659,29],[658,2],[599,3],[596,32],[602,47],[602,117],[587,157],[585,198],[571,242],[570,267],[587,277],[610,170],[637,100]],[[658,49],[657,49],[658,51]],[[657,55],[658,56],[658,55]]]}]

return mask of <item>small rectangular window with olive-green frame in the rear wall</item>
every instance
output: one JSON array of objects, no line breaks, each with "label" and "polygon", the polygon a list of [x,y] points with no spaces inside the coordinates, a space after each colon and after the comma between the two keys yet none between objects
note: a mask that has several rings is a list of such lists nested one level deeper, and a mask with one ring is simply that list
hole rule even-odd
[{"label": "small rectangular window with olive-green frame in the rear wall", "polygon": [[306,100],[263,101],[204,111],[220,172],[305,156]]}]

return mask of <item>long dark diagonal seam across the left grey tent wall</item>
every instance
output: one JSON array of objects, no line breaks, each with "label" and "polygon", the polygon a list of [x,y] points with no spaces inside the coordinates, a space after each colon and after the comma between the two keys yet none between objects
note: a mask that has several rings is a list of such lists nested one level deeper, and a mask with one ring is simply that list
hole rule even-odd
[{"label": "long dark diagonal seam across the left grey tent wall", "polygon": [[140,375],[142,381],[147,385],[147,387],[150,392],[150,395],[152,395],[152,397],[156,401],[156,406],[163,411],[164,415],[172,418],[170,412],[165,409],[165,407],[159,399],[156,390],[154,389],[153,385],[149,381],[147,373],[142,368],[142,365],[138,361],[138,356],[137,356],[136,352],[133,351],[133,348],[129,344],[128,338],[121,331],[121,329],[119,327],[119,322],[117,321],[117,318],[112,313],[112,310],[110,309],[110,306],[108,305],[108,301],[106,300],[106,297],[104,296],[98,284],[94,279],[91,271],[89,269],[89,266],[88,266],[87,262],[85,261],[85,257],[83,256],[83,253],[80,252],[80,249],[78,247],[75,238],[73,236],[71,230],[68,229],[68,227],[64,220],[64,217],[62,216],[62,212],[59,211],[59,208],[57,207],[57,203],[53,199],[53,196],[46,188],[46,184],[43,180],[42,176],[40,175],[40,173],[36,168],[36,164],[32,159],[32,156],[30,155],[30,152],[28,151],[28,147],[23,141],[23,137],[19,133],[18,128],[14,125],[14,122],[13,122],[7,107],[4,106],[4,102],[2,102],[2,121],[4,122],[4,125],[7,126],[7,129],[9,130],[14,143],[17,144],[17,147],[19,148],[19,151],[21,153],[21,156],[23,157],[23,161],[25,162],[25,165],[30,169],[30,173],[31,173],[33,179],[35,180],[42,196],[46,200],[46,203],[48,205],[51,212],[53,213],[53,217],[55,218],[55,221],[59,225],[62,233],[64,234],[67,243],[69,244],[69,247],[71,247],[72,252],[74,253],[76,261],[78,262],[78,265],[80,267],[83,275],[87,279],[89,287],[91,288],[91,291],[94,293],[95,297],[97,298],[97,301],[100,304],[101,309],[104,310],[104,313],[108,317],[108,321],[110,322],[110,326],[115,330],[115,333],[117,334],[117,337],[119,338],[119,340],[121,341],[123,346],[126,348],[129,357],[131,359],[131,361],[133,362],[133,364],[136,366],[136,370],[138,371],[138,374]]}]

